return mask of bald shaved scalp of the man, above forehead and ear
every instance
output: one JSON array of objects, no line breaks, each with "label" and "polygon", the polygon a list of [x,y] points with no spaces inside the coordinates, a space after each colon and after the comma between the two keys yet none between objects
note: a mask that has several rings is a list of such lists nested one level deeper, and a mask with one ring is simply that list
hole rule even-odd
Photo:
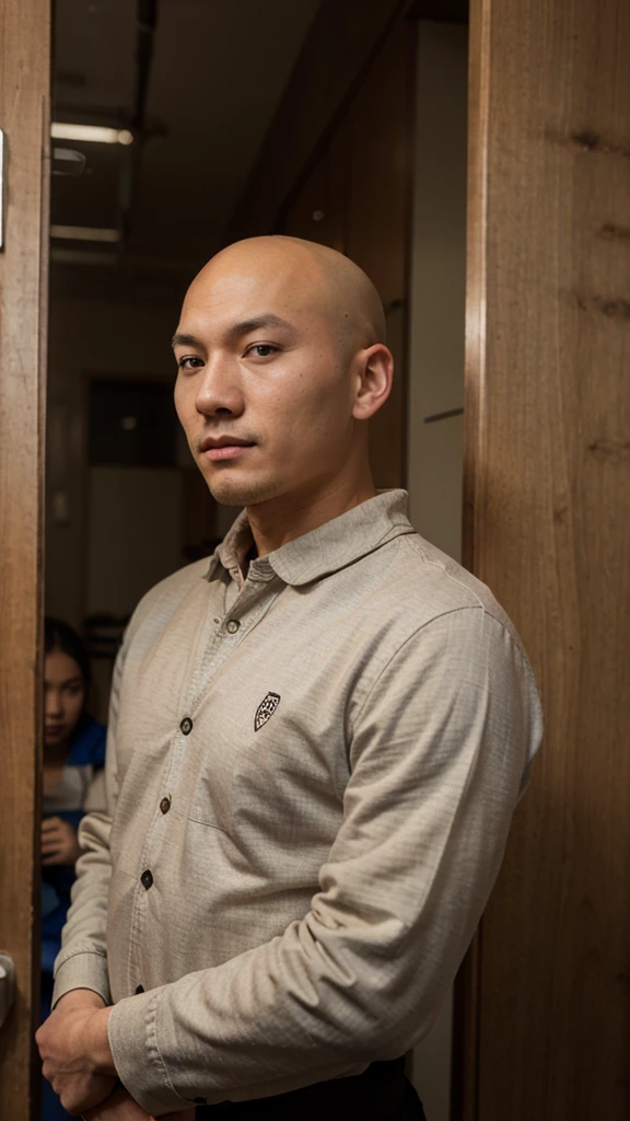
[{"label": "bald shaved scalp of the man, above forehead and ear", "polygon": [[344,355],[359,349],[385,343],[386,322],[379,294],[370,278],[354,261],[327,245],[302,238],[272,234],[248,238],[228,245],[197,274],[188,296],[195,297],[222,271],[252,270],[277,279],[317,303],[339,340]]}]

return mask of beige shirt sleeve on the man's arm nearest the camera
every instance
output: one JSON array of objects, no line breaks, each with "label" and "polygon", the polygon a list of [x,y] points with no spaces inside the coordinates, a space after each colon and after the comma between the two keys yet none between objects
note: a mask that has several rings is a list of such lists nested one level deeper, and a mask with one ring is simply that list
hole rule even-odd
[{"label": "beige shirt sleeve on the man's arm nearest the camera", "polygon": [[492,615],[457,609],[414,633],[355,714],[343,825],[308,914],[113,1009],[133,1097],[155,1115],[253,1099],[414,1046],[487,904],[540,734],[529,667]]}]

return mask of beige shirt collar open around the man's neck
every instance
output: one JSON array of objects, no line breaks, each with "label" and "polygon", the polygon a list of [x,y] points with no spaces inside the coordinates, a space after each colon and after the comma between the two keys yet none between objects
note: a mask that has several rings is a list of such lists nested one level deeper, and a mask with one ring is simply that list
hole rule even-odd
[{"label": "beige shirt collar open around the man's neck", "polygon": [[[383,491],[317,529],[296,537],[266,557],[253,560],[251,575],[265,580],[276,574],[285,584],[299,587],[337,572],[393,537],[416,532],[407,517],[407,499],[405,490]],[[238,576],[239,560],[252,544],[253,537],[243,510],[217,546],[206,578],[212,580],[220,567]]]}]

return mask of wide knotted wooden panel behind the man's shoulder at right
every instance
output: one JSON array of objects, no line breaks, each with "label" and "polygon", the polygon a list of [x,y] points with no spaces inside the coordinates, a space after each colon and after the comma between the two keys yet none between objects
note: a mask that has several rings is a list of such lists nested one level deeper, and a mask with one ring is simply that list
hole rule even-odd
[{"label": "wide knotted wooden panel behind the man's shoulder at right", "polygon": [[546,739],[464,975],[465,1121],[630,1117],[629,57],[626,0],[473,0],[464,548]]}]

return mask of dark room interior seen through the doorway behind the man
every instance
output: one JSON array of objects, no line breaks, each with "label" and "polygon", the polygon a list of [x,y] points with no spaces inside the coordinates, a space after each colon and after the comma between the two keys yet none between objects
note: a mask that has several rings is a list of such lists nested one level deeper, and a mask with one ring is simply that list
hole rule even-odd
[{"label": "dark room interior seen through the doorway behind the man", "polygon": [[[160,455],[170,451],[160,462],[139,439],[146,402],[159,413],[173,386],[168,340],[186,285],[224,242],[294,233],[372,275],[398,364],[374,426],[376,481],[414,485],[409,308],[425,16],[416,4],[340,12],[316,0],[277,0],[263,15],[253,0],[222,11],[193,0],[72,0],[55,10],[46,610],[86,642],[102,717],[135,603],[167,572],[209,555],[237,512],[214,507],[180,438],[173,450],[163,434]],[[174,58],[185,61],[184,80]],[[373,145],[378,176],[365,174]],[[430,1049],[415,1062],[433,1121],[446,1121],[448,1027],[437,1038],[438,1062]]]}]

